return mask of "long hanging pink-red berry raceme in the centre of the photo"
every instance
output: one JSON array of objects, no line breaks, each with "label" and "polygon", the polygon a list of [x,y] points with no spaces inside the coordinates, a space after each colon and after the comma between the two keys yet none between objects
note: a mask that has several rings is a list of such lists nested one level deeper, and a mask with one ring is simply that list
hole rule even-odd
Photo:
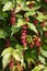
[{"label": "long hanging pink-red berry raceme in the centre of the photo", "polygon": [[21,39],[22,39],[22,44],[23,44],[24,47],[26,47],[26,45],[27,45],[26,35],[27,35],[27,25],[23,25],[22,26],[22,36],[21,36]]}]

